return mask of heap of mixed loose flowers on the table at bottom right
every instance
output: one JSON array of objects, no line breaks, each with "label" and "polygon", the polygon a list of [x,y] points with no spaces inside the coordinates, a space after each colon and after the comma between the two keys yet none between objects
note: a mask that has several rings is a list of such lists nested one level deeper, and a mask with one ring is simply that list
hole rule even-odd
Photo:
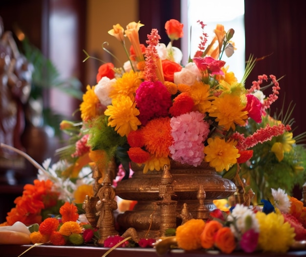
[{"label": "heap of mixed loose flowers on the table at bottom right", "polygon": [[[177,227],[175,240],[185,250],[234,250],[284,253],[306,239],[306,207],[284,190],[271,190],[272,203],[263,208],[237,204],[227,212],[219,209],[207,221],[191,219]],[[156,249],[158,251],[157,242]]]}]

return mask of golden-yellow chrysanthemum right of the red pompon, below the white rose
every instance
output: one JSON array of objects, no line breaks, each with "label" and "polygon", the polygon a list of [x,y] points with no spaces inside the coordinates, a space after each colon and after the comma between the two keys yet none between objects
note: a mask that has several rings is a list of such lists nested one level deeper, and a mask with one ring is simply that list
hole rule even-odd
[{"label": "golden-yellow chrysanthemum right of the red pompon, below the white rose", "polygon": [[211,107],[211,101],[214,97],[210,94],[210,86],[201,82],[196,82],[190,87],[189,94],[195,102],[195,107],[199,112],[207,112]]}]

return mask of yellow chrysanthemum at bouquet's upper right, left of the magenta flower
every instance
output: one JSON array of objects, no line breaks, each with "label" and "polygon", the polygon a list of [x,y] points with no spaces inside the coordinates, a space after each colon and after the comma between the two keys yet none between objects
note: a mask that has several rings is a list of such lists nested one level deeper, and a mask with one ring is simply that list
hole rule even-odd
[{"label": "yellow chrysanthemum at bouquet's upper right, left of the magenta flower", "polygon": [[235,130],[235,124],[243,126],[248,118],[247,111],[243,111],[240,97],[232,94],[224,94],[212,102],[213,111],[209,116],[216,117],[219,126],[224,126],[226,130]]}]

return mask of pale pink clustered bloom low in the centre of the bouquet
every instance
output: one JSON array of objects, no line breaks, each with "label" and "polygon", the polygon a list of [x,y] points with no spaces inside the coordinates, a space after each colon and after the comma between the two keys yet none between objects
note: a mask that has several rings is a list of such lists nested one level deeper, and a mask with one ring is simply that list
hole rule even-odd
[{"label": "pale pink clustered bloom low in the centre of the bouquet", "polygon": [[169,148],[172,159],[197,167],[204,158],[203,141],[209,133],[209,124],[198,111],[171,118],[171,134],[174,143]]}]

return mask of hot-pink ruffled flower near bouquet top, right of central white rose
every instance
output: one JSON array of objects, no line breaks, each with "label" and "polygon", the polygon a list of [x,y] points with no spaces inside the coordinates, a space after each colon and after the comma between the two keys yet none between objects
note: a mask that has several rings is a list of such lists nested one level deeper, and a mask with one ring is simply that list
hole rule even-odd
[{"label": "hot-pink ruffled flower near bouquet top, right of central white rose", "polygon": [[216,60],[210,56],[208,57],[195,57],[193,59],[198,69],[202,72],[208,71],[212,75],[224,75],[221,68],[225,65],[224,61]]}]

